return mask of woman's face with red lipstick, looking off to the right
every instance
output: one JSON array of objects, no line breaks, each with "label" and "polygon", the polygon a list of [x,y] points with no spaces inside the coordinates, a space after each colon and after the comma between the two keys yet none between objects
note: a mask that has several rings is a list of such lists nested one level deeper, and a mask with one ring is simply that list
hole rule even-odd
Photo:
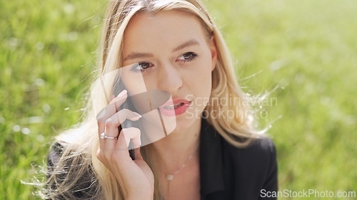
[{"label": "woman's face with red lipstick, looking off to the right", "polygon": [[[182,11],[139,13],[126,28],[122,80],[129,95],[165,90],[172,100],[159,110],[176,120],[177,131],[201,123],[211,95],[216,46],[196,16]],[[138,102],[134,102],[134,105]]]}]

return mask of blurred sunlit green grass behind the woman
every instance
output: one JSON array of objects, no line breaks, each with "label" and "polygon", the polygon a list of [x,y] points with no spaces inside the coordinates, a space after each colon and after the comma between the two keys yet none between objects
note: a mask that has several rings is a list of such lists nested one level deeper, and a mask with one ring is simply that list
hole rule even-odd
[{"label": "blurred sunlit green grass behind the woman", "polygon": [[[261,122],[282,115],[269,130],[279,190],[357,192],[357,1],[204,2],[244,90],[277,88]],[[79,122],[105,5],[0,1],[0,199],[36,199],[21,180],[44,165],[54,135]]]}]

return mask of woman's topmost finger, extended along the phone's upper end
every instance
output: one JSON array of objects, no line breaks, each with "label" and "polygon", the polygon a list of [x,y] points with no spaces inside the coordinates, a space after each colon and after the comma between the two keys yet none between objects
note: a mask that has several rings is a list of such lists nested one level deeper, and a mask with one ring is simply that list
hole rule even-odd
[{"label": "woman's topmost finger, extended along the phone's upper end", "polygon": [[[123,90],[123,92],[126,90]],[[111,102],[109,103],[109,105],[107,105],[106,107],[104,107],[99,113],[98,115],[96,115],[96,120],[99,122],[104,123],[106,121],[106,119],[108,119],[109,117],[111,117],[112,115],[114,115],[116,112],[118,112],[118,108],[126,101],[126,98],[128,98],[127,93],[121,92],[118,97],[114,98],[113,100],[111,100]]]}]

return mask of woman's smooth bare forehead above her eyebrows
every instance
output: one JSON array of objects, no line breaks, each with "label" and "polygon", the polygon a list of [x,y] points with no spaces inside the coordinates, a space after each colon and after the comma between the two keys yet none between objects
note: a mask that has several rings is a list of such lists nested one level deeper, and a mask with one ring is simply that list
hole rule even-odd
[{"label": "woman's smooth bare forehead above her eyebrows", "polygon": [[124,33],[124,56],[129,51],[159,50],[191,39],[205,43],[201,22],[183,11],[141,12],[132,17]]}]

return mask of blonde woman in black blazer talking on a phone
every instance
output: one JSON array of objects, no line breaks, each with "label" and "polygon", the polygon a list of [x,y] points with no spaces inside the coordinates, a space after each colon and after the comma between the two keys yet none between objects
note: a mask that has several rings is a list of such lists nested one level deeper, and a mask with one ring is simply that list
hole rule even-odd
[{"label": "blonde woman in black blazer talking on a phone", "polygon": [[[277,190],[273,143],[253,129],[226,44],[201,1],[110,1],[103,35],[88,117],[56,138],[46,199],[263,199]],[[149,90],[169,93],[153,109],[167,115],[118,109]],[[124,120],[141,127],[121,129]],[[144,145],[160,122],[166,137]]]}]

